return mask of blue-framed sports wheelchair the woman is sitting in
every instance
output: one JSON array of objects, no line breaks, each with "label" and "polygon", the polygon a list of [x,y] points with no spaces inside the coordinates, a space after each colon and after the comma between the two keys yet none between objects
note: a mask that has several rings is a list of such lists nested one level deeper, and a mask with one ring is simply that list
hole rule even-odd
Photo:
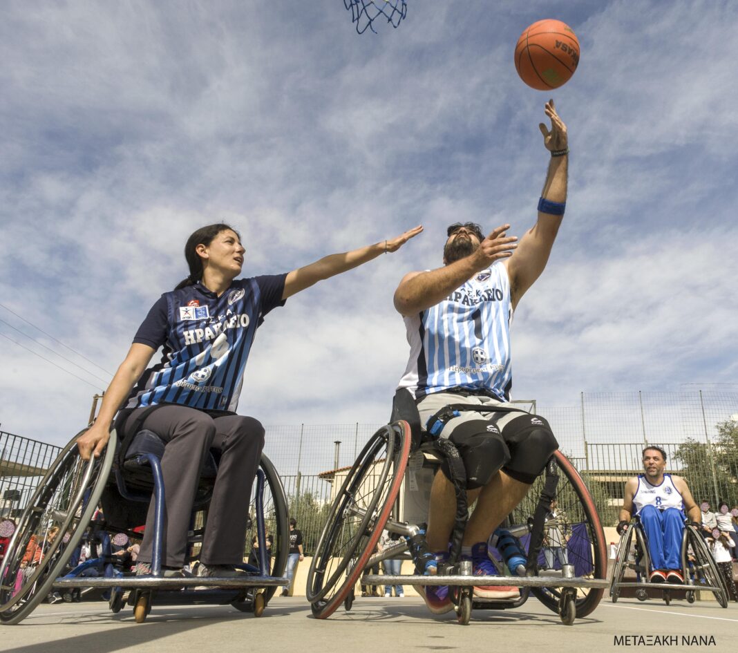
[{"label": "blue-framed sports wheelchair the woman is sitting in", "polygon": [[[15,624],[26,618],[49,592],[99,587],[106,590],[112,612],[120,612],[128,594],[137,623],[145,621],[157,604],[230,604],[241,612],[261,616],[277,587],[288,584],[283,573],[289,555],[288,511],[283,487],[274,466],[261,462],[249,505],[249,525],[244,542],[256,536],[258,567],[236,565],[243,573],[235,578],[165,578],[162,572],[162,524],[165,497],[159,460],[164,443],[151,431],[137,432],[121,454],[115,429],[99,458],[82,460],[77,438],[64,447],[46,471],[0,564],[0,623]],[[217,473],[216,452],[204,463],[193,506],[187,542],[187,562],[197,559],[207,522],[207,505]],[[115,464],[114,464],[115,462]],[[151,574],[135,576],[117,570],[111,558],[111,533],[137,537],[133,529],[145,523],[152,491],[156,510]],[[92,522],[102,508],[104,522]],[[271,564],[266,556],[266,528],[274,536]],[[99,555],[77,564],[83,538],[91,533]],[[113,536],[114,539],[115,536]],[[270,570],[271,566],[271,570]],[[100,576],[80,576],[94,567]],[[109,594],[108,594],[109,592]]]}]

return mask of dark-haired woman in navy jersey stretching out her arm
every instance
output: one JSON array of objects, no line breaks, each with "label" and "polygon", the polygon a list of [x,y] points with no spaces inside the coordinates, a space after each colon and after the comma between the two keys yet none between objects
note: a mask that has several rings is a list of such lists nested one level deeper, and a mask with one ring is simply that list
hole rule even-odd
[{"label": "dark-haired woman in navy jersey stretching out her arm", "polygon": [[[421,230],[329,255],[286,274],[238,280],[246,250],[235,229],[212,224],[190,235],[184,248],[189,276],[151,308],[104,395],[97,420],[77,440],[85,460],[103,452],[113,422],[123,446],[142,429],[164,441],[165,576],[182,573],[199,474],[210,449],[220,453],[220,463],[198,575],[234,576],[233,565],[243,562],[244,505],[249,505],[264,429],[235,409],[246,359],[266,314],[319,280],[395,252]],[[161,361],[147,369],[160,347]],[[151,573],[154,501],[146,524],[138,574]]]}]

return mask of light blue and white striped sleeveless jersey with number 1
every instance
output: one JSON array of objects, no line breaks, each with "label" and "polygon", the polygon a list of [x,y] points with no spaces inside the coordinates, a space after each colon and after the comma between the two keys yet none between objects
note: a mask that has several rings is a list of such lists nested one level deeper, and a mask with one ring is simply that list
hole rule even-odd
[{"label": "light blue and white striped sleeveless jersey with number 1", "polygon": [[509,401],[512,314],[510,280],[500,261],[441,303],[405,317],[410,360],[399,387],[416,399],[466,387]]}]

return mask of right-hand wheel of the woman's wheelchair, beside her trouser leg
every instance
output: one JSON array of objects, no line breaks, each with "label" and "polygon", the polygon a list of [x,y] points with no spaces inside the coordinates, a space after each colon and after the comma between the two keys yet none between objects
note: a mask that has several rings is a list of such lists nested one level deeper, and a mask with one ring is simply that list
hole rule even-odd
[{"label": "right-hand wheel of the woman's wheelchair, beside her trouser leg", "polygon": [[[287,568],[287,559],[289,557],[289,511],[287,510],[287,500],[282,487],[282,481],[272,461],[265,455],[261,455],[261,463],[259,463],[261,471],[264,472],[264,494],[263,494],[263,516],[266,531],[274,537],[272,545],[271,570],[267,576],[284,576]],[[257,533],[257,517],[256,517],[256,481],[252,490],[251,504],[249,505],[249,527],[246,529],[246,542],[249,550],[246,551],[246,558],[249,556],[251,542]],[[275,595],[277,587],[264,587],[263,597],[261,600],[266,605]]]}]

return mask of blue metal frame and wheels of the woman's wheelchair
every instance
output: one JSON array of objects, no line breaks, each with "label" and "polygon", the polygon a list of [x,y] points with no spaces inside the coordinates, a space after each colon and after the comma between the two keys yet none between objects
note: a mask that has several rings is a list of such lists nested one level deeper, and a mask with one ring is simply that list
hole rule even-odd
[{"label": "blue metal frame and wheels of the woman's wheelchair", "polygon": [[[6,555],[0,565],[0,623],[12,625],[20,623],[32,610],[46,598],[52,590],[74,590],[88,587],[101,587],[111,590],[110,607],[113,612],[123,608],[123,594],[130,590],[128,603],[134,606],[134,618],[137,623],[145,621],[151,611],[154,597],[160,604],[191,604],[196,600],[199,604],[230,604],[241,612],[252,612],[261,616],[269,599],[277,587],[289,583],[282,574],[289,555],[288,513],[284,490],[279,476],[269,459],[262,455],[260,469],[255,479],[255,493],[252,505],[255,506],[256,533],[259,542],[259,567],[249,564],[235,565],[244,571],[235,578],[200,578],[185,576],[184,578],[164,578],[162,573],[162,523],[165,506],[164,489],[161,478],[159,458],[145,454],[145,462],[151,466],[154,475],[154,501],[156,525],[154,527],[154,545],[152,547],[151,575],[125,576],[114,573],[106,565],[109,562],[110,543],[103,541],[103,556],[77,565],[68,571],[66,565],[89,528],[92,516],[100,504],[103,490],[108,483],[117,446],[117,434],[111,430],[110,440],[103,455],[83,461],[77,451],[75,435],[64,447],[61,454],[49,467],[39,483],[27,508],[24,510],[18,525],[7,547]],[[270,576],[264,573],[269,570],[266,558],[265,519],[263,506],[265,486],[273,502],[273,519],[277,522],[275,533],[274,567]],[[125,498],[148,501],[151,494],[132,497],[125,488],[121,491]],[[59,527],[59,536],[45,547],[42,557],[35,569],[22,584],[21,590],[15,590],[15,578],[21,572],[21,560],[27,552],[27,546],[40,529],[48,533],[52,525]],[[130,525],[126,525],[128,528]],[[130,531],[129,531],[130,532]],[[198,541],[190,540],[190,553]],[[38,540],[36,540],[38,542]],[[46,535],[44,535],[46,545]],[[192,557],[190,556],[190,559]],[[94,564],[106,568],[106,577],[78,577],[84,568]],[[111,567],[111,566],[110,566]],[[60,573],[65,574],[60,577]],[[205,590],[194,590],[195,587],[206,587]]]}]

